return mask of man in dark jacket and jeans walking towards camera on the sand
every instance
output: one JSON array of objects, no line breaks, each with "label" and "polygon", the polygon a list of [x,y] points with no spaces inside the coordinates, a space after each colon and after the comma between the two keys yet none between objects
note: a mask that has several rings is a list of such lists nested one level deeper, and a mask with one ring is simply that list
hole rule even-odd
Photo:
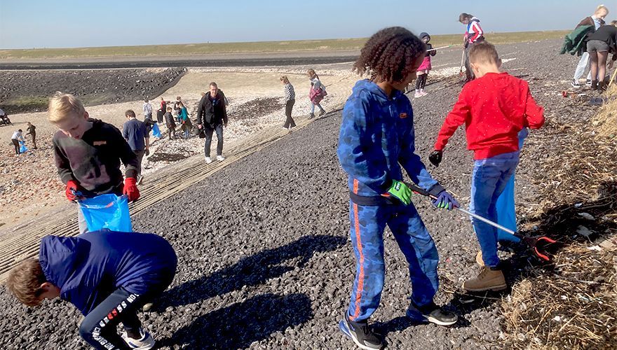
[{"label": "man in dark jacket and jeans walking towards camera on the sand", "polygon": [[210,145],[212,132],[217,133],[217,160],[223,157],[223,127],[227,127],[227,106],[225,94],[219,90],[217,83],[210,83],[210,91],[206,92],[199,102],[197,109],[197,127],[205,133],[204,154],[205,162],[210,164]]}]

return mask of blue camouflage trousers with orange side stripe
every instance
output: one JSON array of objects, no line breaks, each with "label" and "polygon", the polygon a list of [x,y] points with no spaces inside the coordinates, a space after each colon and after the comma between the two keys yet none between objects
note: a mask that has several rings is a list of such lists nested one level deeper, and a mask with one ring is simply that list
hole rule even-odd
[{"label": "blue camouflage trousers with orange side stripe", "polygon": [[348,315],[352,321],[369,318],[381,300],[386,266],[384,229],[388,225],[409,264],[412,301],[419,307],[433,302],[439,288],[439,256],[413,204],[363,206],[350,203],[351,244],[355,253],[355,279]]}]

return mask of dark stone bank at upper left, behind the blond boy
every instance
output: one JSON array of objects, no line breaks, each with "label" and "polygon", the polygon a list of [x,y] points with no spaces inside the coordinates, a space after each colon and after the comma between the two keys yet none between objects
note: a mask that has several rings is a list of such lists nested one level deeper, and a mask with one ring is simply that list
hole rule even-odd
[{"label": "dark stone bank at upper left, behind the blond boy", "polygon": [[7,113],[46,111],[56,91],[79,96],[84,104],[154,98],[175,85],[184,68],[0,71],[0,106]]}]

